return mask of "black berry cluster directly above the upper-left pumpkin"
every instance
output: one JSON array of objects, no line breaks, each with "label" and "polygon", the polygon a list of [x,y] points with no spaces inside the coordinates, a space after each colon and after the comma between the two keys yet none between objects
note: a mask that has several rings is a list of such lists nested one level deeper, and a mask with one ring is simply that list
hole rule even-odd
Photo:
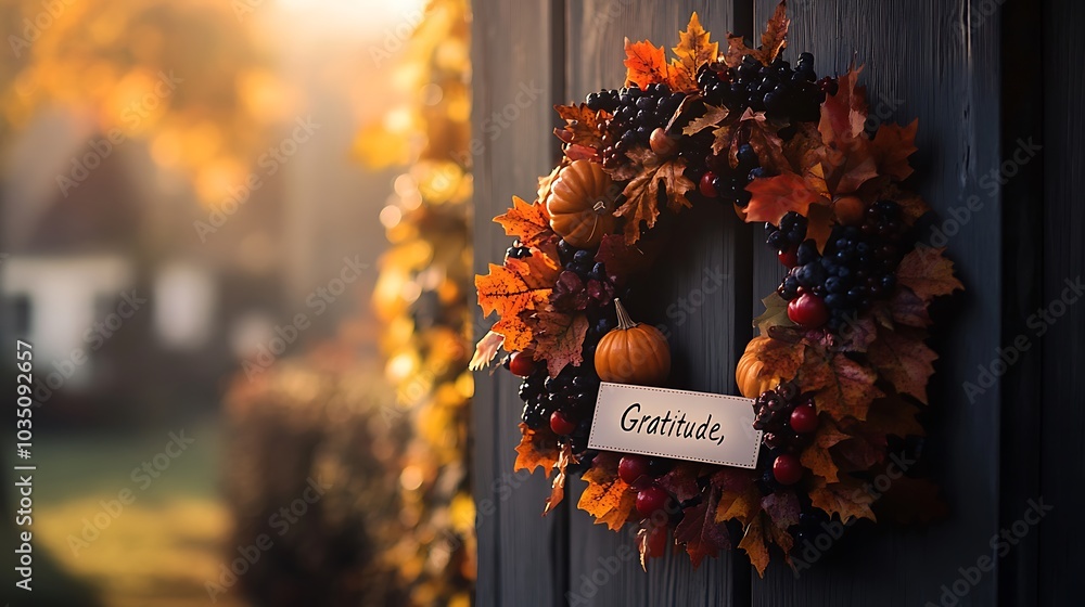
[{"label": "black berry cluster directly above the upper-left pumpkin", "polygon": [[647,147],[652,131],[671,120],[684,99],[684,93],[673,93],[662,83],[649,85],[644,90],[634,86],[589,94],[585,100],[589,108],[604,109],[614,116],[602,137],[603,167],[616,168],[625,164],[625,152],[635,145]]}]

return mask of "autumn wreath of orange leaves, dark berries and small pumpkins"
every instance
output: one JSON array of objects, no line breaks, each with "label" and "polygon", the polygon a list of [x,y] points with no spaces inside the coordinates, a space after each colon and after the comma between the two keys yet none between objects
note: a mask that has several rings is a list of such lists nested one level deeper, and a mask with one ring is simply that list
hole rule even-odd
[{"label": "autumn wreath of orange leaves, dark berries and small pumpkins", "polygon": [[[694,13],[669,62],[626,41],[624,88],[557,107],[562,162],[495,219],[515,242],[475,281],[500,319],[472,366],[503,347],[523,377],[516,468],[557,473],[545,512],[583,468],[578,507],[612,530],[640,525],[642,564],[671,538],[694,565],[737,540],[764,573],[773,544],[795,566],[827,526],[876,507],[926,518],[936,501],[899,462],[921,447],[928,308],[961,285],[917,243],[929,209],[901,186],[917,124],[867,132],[860,70],[818,79],[809,53],[792,66],[789,24],[781,2],[758,49],[728,36],[720,53]],[[666,246],[661,214],[719,202],[764,223],[788,269],[736,370],[763,430],[756,468],[588,450],[600,380],[667,380],[665,337],[620,301]]]}]

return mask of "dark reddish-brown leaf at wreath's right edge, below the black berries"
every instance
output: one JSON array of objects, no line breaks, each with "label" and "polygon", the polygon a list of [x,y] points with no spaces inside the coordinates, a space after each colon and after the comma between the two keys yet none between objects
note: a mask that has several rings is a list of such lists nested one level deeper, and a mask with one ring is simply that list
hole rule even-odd
[{"label": "dark reddish-brown leaf at wreath's right edge, below the black berries", "polygon": [[927,404],[927,383],[934,375],[932,363],[939,358],[927,347],[927,332],[899,326],[882,327],[868,350],[870,363],[902,395],[915,397]]}]

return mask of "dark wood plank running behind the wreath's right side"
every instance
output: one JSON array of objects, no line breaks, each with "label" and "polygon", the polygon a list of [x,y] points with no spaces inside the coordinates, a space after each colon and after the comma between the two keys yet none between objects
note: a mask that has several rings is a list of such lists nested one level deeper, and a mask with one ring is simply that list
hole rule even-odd
[{"label": "dark wood plank running behind the wreath's right side", "polygon": [[[999,163],[999,24],[969,18],[971,0],[795,0],[788,56],[813,52],[818,74],[867,66],[872,115],[920,119],[909,185],[940,216],[978,196],[981,210],[949,235],[948,255],[968,292],[936,305],[932,346],[941,354],[932,380],[929,455],[937,463],[952,517],[924,530],[860,524],[809,570],[795,576],[775,563],[753,582],[753,605],[923,605],[939,603],[958,568],[991,554],[998,529],[999,389],[970,402],[965,382],[990,364],[999,346],[999,189],[983,176]],[[757,0],[763,24],[775,0]],[[756,27],[755,27],[756,29]],[[757,293],[776,275],[758,256]],[[995,605],[996,576],[986,574],[959,605]]]}]

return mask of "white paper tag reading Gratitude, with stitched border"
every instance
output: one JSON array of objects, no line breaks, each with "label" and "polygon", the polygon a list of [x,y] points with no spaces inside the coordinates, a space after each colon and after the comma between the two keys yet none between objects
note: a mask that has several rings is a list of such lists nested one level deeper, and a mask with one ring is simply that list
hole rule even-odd
[{"label": "white paper tag reading Gratitude, with stitched border", "polygon": [[753,399],[604,382],[588,448],[752,468],[753,419]]}]

